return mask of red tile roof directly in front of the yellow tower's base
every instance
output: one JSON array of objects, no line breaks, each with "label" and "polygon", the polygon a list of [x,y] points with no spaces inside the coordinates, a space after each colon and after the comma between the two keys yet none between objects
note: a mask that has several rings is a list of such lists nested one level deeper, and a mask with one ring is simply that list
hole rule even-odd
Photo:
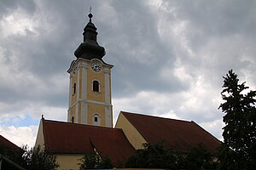
[{"label": "red tile roof directly in front of the yellow tower's base", "polygon": [[122,129],[43,119],[43,132],[45,148],[51,153],[84,154],[95,148],[117,165],[135,152]]}]

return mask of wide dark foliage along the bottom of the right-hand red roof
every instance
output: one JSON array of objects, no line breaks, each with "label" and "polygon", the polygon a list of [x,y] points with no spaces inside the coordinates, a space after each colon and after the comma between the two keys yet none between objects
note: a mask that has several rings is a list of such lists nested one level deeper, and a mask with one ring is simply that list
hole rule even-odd
[{"label": "wide dark foliage along the bottom of the right-hand red roof", "polygon": [[188,154],[168,150],[163,144],[143,144],[126,162],[125,167],[166,169],[214,169],[212,155],[202,146],[191,148]]}]

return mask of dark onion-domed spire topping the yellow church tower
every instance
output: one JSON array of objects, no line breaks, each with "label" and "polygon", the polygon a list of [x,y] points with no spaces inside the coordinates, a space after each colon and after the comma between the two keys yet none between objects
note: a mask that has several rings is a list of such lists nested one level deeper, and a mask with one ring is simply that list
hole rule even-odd
[{"label": "dark onion-domed spire topping the yellow church tower", "polygon": [[74,52],[77,58],[84,59],[101,59],[106,54],[105,49],[102,48],[97,42],[97,28],[91,21],[93,14],[88,14],[89,22],[84,27],[84,42],[79,45],[79,48]]}]

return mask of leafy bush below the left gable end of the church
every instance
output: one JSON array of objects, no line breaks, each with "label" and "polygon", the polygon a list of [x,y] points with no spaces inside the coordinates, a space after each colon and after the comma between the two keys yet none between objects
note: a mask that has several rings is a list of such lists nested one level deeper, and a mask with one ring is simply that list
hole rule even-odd
[{"label": "leafy bush below the left gable end of the church", "polygon": [[47,152],[47,150],[41,149],[40,145],[32,149],[28,149],[25,146],[24,150],[26,150],[23,155],[24,167],[27,170],[55,170],[57,167],[60,167],[56,162],[56,157]]}]

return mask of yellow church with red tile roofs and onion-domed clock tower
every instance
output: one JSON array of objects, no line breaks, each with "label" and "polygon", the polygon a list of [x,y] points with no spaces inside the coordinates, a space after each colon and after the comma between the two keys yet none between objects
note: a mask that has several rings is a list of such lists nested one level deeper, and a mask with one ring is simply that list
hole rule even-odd
[{"label": "yellow church with red tile roofs and onion-domed clock tower", "polygon": [[164,142],[168,147],[189,151],[204,144],[214,153],[220,141],[195,122],[120,111],[113,127],[111,69],[102,59],[105,48],[97,42],[92,14],[84,27],[84,42],[75,50],[69,73],[67,122],[45,120],[38,127],[36,146],[56,156],[59,169],[79,169],[79,158],[96,152],[121,167],[143,143]]}]

